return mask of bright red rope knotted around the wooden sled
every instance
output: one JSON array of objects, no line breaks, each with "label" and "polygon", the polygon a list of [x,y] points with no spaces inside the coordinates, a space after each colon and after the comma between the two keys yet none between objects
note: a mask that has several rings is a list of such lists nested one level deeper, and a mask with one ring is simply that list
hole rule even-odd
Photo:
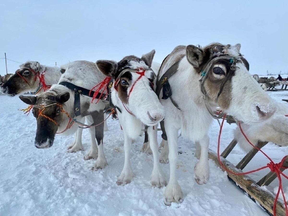
[{"label": "bright red rope knotted around the wooden sled", "polygon": [[[288,116],[288,115],[287,115]],[[224,124],[224,121],[225,121],[225,117],[226,117],[226,114],[223,116],[223,120],[222,120],[222,123],[220,125],[220,131],[219,131],[219,136],[218,136],[218,146],[217,146],[217,157],[218,157],[218,162],[219,164],[221,165],[221,167],[223,168],[223,170],[225,170],[226,172],[229,172],[231,174],[234,174],[234,175],[245,175],[245,174],[250,174],[250,173],[253,173],[253,172],[257,172],[259,170],[263,170],[265,168],[270,168],[270,170],[272,172],[275,172],[276,175],[277,175],[277,178],[279,180],[279,187],[278,187],[278,191],[277,191],[277,194],[276,194],[276,197],[275,197],[275,200],[274,200],[274,205],[273,205],[273,215],[276,216],[276,203],[277,203],[277,200],[278,200],[278,197],[279,197],[279,194],[280,194],[280,191],[282,193],[282,196],[283,196],[283,200],[284,200],[284,205],[285,205],[285,214],[286,216],[288,215],[288,209],[287,209],[287,203],[286,203],[286,199],[285,199],[285,195],[284,195],[284,191],[283,191],[283,187],[282,187],[282,179],[281,179],[281,175],[283,175],[286,179],[288,179],[288,176],[286,176],[281,170],[280,168],[283,168],[283,169],[287,169],[288,167],[284,167],[283,166],[283,163],[285,161],[285,157],[283,157],[283,159],[281,160],[280,163],[278,164],[275,164],[274,161],[272,161],[272,159],[266,154],[264,153],[261,149],[259,149],[257,146],[253,145],[250,140],[247,138],[247,136],[245,135],[245,133],[243,132],[242,130],[242,127],[241,127],[241,123],[239,122],[239,128],[240,128],[240,131],[241,133],[243,134],[243,136],[245,137],[245,139],[247,140],[247,142],[249,142],[249,144],[251,146],[253,146],[253,148],[257,149],[258,151],[260,151],[262,154],[264,154],[269,160],[270,160],[270,163],[267,164],[267,166],[263,166],[261,168],[258,168],[258,169],[255,169],[255,170],[251,170],[249,172],[242,172],[242,173],[236,173],[236,172],[232,172],[230,171],[229,169],[226,168],[226,166],[223,165],[221,159],[220,159],[220,138],[221,138],[221,133],[222,133],[222,129],[223,129],[223,124]]]}]

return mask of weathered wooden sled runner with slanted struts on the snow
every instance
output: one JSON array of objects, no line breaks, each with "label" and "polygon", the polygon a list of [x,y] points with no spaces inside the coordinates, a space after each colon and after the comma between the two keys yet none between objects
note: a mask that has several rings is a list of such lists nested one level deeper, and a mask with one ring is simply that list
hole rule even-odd
[{"label": "weathered wooden sled runner with slanted struts on the snow", "polygon": [[[265,146],[268,142],[258,142],[257,147],[261,149]],[[232,149],[236,146],[237,140],[234,139],[232,142],[227,146],[227,148],[221,154],[221,162],[223,166],[225,166],[228,170],[234,173],[241,173],[242,169],[251,161],[251,159],[256,155],[258,152],[257,149],[252,149],[245,157],[236,165],[234,166],[226,157],[230,154]],[[217,153],[212,150],[209,150],[209,158],[213,159],[215,164],[219,166],[223,171],[225,171],[221,164],[218,161]],[[286,156],[285,161],[283,163],[284,167],[288,167],[288,156]],[[284,169],[282,168],[281,171]],[[228,173],[228,179],[234,183],[238,188],[240,188],[245,194],[249,196],[255,203],[259,203],[260,206],[269,214],[273,215],[273,205],[275,196],[274,194],[264,190],[261,186],[269,185],[274,179],[276,179],[277,175],[275,172],[269,172],[266,174],[262,179],[258,182],[255,182],[251,179],[248,175],[235,175],[232,173]],[[276,215],[277,216],[285,216],[285,207],[281,202],[276,203]]]}]

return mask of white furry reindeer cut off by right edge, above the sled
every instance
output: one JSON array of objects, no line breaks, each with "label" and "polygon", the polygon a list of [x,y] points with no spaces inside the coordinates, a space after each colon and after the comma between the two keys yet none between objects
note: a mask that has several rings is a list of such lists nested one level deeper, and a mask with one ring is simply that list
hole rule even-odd
[{"label": "white furry reindeer cut off by right edge, above the sled", "polygon": [[[277,111],[273,118],[257,124],[241,124],[241,127],[250,142],[257,146],[257,142],[273,142],[279,146],[288,145],[288,106],[283,103],[277,103]],[[242,135],[239,127],[234,130],[234,137],[238,141],[241,149],[249,152],[253,149],[245,137]]]}]

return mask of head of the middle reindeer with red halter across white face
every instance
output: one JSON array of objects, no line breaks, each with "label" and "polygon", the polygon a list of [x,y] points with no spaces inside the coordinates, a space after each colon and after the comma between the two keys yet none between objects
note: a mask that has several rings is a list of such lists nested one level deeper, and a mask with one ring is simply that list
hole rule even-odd
[{"label": "head of the middle reindeer with red halter across white face", "polygon": [[[134,114],[142,123],[151,126],[164,118],[164,109],[153,86],[155,73],[151,70],[155,50],[143,55],[126,56],[120,62],[99,60],[98,69],[114,79],[116,102]],[[118,105],[119,106],[119,105]],[[121,106],[122,107],[122,106]]]}]

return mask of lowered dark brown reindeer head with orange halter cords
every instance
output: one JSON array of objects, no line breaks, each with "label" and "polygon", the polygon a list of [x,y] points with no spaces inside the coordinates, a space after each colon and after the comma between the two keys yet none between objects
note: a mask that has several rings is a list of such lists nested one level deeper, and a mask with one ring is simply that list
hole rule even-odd
[{"label": "lowered dark brown reindeer head with orange halter cords", "polygon": [[52,146],[57,130],[68,119],[62,106],[69,100],[69,97],[69,92],[59,94],[54,91],[46,91],[39,96],[19,96],[24,103],[34,106],[32,112],[37,119],[35,137],[37,148]]}]

